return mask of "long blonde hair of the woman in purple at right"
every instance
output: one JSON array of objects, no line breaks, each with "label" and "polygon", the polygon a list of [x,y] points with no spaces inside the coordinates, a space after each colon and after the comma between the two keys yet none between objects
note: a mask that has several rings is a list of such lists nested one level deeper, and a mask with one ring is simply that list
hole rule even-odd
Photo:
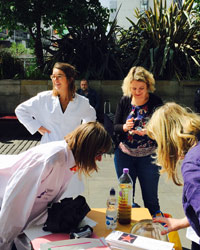
[{"label": "long blonde hair of the woman in purple at right", "polygon": [[200,116],[188,108],[169,102],[158,108],[147,126],[147,135],[156,140],[156,163],[176,185],[181,185],[177,164],[195,146],[200,135]]}]

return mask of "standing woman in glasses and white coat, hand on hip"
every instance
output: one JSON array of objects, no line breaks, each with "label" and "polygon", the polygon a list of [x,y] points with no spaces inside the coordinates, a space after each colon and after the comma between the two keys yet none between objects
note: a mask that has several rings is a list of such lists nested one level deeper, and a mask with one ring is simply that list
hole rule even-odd
[{"label": "standing woman in glasses and white coat, hand on hip", "polygon": [[34,134],[42,135],[41,143],[63,140],[81,123],[96,121],[96,111],[87,98],[76,94],[75,68],[57,62],[51,75],[53,90],[43,91],[15,109],[18,120]]}]

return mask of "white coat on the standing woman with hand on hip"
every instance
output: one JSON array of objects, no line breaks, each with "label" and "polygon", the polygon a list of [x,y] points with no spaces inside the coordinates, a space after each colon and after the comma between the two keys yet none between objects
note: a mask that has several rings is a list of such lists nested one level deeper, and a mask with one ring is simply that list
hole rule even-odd
[{"label": "white coat on the standing woman with hand on hip", "polygon": [[41,143],[63,140],[81,123],[96,121],[96,111],[87,98],[75,94],[63,113],[59,98],[52,96],[52,91],[41,92],[19,104],[15,113],[31,134],[41,126],[51,131],[42,136]]}]

